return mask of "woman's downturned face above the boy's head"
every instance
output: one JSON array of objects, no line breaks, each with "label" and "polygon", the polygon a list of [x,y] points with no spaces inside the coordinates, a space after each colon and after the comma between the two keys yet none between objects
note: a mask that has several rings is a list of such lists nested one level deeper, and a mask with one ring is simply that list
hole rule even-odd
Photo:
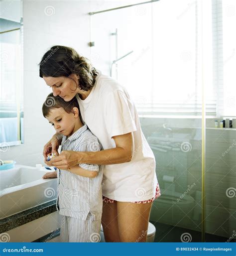
[{"label": "woman's downturned face above the boy's head", "polygon": [[64,101],[72,100],[81,91],[76,74],[71,74],[68,77],[43,76],[43,79],[52,88],[53,96],[60,96]]}]

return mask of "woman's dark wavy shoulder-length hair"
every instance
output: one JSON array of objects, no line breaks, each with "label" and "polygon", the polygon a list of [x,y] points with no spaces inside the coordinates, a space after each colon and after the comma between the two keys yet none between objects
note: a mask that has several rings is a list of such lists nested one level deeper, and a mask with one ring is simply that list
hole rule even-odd
[{"label": "woman's dark wavy shoulder-length hair", "polygon": [[79,76],[79,86],[84,91],[90,90],[95,84],[97,70],[73,48],[55,45],[43,55],[38,65],[40,77],[76,74]]}]

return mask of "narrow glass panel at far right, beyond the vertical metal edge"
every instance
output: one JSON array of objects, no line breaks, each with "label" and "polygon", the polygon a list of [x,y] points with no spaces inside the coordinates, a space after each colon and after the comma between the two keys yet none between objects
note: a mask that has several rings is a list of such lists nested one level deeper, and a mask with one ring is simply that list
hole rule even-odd
[{"label": "narrow glass panel at far right, beyond the vertical metal edge", "polygon": [[[220,115],[206,123],[206,236],[236,236],[236,2],[213,0],[214,81]],[[217,22],[216,22],[217,21]]]}]

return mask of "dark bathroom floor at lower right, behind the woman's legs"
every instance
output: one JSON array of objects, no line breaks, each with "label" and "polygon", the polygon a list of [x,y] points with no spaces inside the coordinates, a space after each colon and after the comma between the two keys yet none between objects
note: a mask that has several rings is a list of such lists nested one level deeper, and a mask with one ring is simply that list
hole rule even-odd
[{"label": "dark bathroom floor at lower right, behind the woman's legs", "polygon": [[[182,242],[181,235],[183,233],[191,234],[192,239],[189,242],[202,242],[201,232],[174,227],[158,222],[150,222],[156,227],[156,235],[154,242]],[[227,242],[228,239],[229,238],[219,237],[211,234],[205,235],[205,242]],[[236,242],[236,237],[235,239],[232,239],[230,242]]]}]

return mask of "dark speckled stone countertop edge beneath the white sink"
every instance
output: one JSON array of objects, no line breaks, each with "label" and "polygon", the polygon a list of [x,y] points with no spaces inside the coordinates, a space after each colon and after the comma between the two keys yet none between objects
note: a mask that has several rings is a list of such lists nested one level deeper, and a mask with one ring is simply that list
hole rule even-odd
[{"label": "dark speckled stone countertop edge beneath the white sink", "polygon": [[0,220],[0,234],[56,212],[56,199]]}]

